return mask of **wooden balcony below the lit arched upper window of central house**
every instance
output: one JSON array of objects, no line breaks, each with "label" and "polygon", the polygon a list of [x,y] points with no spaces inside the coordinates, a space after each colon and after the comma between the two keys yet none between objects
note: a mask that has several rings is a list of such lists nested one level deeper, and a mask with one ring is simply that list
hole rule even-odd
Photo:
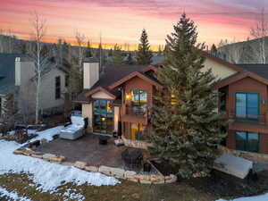
[{"label": "wooden balcony below the lit arched upper window of central house", "polygon": [[147,106],[122,105],[121,107],[121,121],[142,123],[147,125],[147,117]]}]

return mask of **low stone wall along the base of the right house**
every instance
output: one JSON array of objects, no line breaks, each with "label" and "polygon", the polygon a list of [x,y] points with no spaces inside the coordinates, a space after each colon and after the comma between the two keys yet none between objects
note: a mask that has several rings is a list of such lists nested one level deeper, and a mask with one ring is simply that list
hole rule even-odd
[{"label": "low stone wall along the base of the right house", "polygon": [[264,154],[258,154],[258,153],[252,153],[252,152],[244,152],[239,151],[235,149],[229,149],[227,147],[219,146],[219,149],[226,154],[230,155],[236,155],[242,158],[245,158],[249,161],[255,162],[255,163],[268,163],[268,155]]}]

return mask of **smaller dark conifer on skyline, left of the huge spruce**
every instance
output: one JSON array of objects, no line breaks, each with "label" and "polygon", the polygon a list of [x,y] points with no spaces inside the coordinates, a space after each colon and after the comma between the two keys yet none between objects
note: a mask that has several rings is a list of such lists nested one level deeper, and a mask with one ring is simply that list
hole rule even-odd
[{"label": "smaller dark conifer on skyline, left of the huge spruce", "polygon": [[150,50],[150,44],[148,41],[146,29],[142,30],[141,37],[138,45],[137,63],[138,64],[150,64],[152,63],[153,54]]}]

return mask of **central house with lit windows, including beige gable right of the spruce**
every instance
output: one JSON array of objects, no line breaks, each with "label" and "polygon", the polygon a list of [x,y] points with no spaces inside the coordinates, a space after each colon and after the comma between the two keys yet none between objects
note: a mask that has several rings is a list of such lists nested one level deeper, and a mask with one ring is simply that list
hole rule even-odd
[{"label": "central house with lit windows, including beige gable right of the spruce", "polygon": [[[241,70],[210,54],[205,70],[212,68],[215,76],[224,79]],[[76,102],[82,105],[82,115],[88,117],[88,129],[93,133],[112,135],[140,142],[152,135],[150,109],[156,88],[158,68],[152,65],[105,65],[99,73],[99,63],[93,59],[84,63],[84,90]]]}]

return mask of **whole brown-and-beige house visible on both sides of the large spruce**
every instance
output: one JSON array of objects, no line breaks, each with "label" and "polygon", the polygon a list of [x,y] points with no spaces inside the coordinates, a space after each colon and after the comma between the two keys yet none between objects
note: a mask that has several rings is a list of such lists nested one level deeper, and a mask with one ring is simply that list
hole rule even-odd
[{"label": "whole brown-and-beige house visible on both sides of the large spruce", "polygon": [[[230,119],[223,145],[240,151],[268,154],[268,65],[227,63],[205,55],[205,68],[220,79],[219,113]],[[152,65],[106,65],[99,73],[92,59],[84,63],[84,90],[77,99],[93,133],[122,133],[124,140],[142,143],[152,135],[150,108],[154,104],[158,68]],[[137,143],[133,144],[137,145]]]}]

